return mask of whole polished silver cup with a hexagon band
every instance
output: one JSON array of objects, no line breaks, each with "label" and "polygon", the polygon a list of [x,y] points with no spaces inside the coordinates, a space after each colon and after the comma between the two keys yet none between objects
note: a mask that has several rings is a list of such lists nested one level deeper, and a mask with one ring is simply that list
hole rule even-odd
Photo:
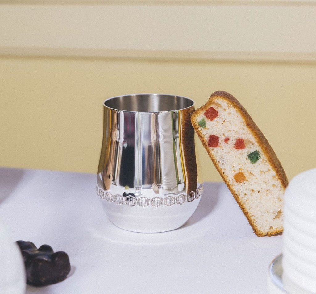
[{"label": "whole polished silver cup with a hexagon band", "polygon": [[133,94],[104,101],[96,192],[114,225],[135,232],[170,231],[196,210],[194,101]]}]

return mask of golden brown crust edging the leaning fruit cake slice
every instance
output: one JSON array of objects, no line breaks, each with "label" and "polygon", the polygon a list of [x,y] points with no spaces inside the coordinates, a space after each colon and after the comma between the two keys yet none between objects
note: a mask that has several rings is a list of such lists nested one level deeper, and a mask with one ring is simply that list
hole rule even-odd
[{"label": "golden brown crust edging the leaning fruit cake slice", "polygon": [[247,127],[252,132],[252,134],[256,138],[259,146],[262,148],[264,154],[266,155],[267,159],[269,160],[272,168],[275,170],[276,175],[277,175],[280,183],[282,184],[283,188],[284,189],[286,188],[286,186],[288,185],[288,179],[287,179],[287,176],[286,176],[286,174],[285,174],[285,172],[283,170],[283,167],[282,167],[279,159],[276,157],[276,154],[273,151],[272,147],[270,146],[268,140],[265,138],[265,136],[260,131],[258,126],[253,122],[253,120],[250,117],[249,113],[246,111],[246,109],[239,103],[239,101],[233,95],[231,95],[231,94],[229,94],[227,92],[224,92],[224,91],[216,91],[216,92],[214,92],[210,96],[210,98],[207,101],[207,103],[205,105],[201,106],[200,108],[198,108],[191,115],[191,123],[193,125],[193,128],[196,130],[196,133],[197,133],[198,137],[200,138],[205,150],[209,154],[210,159],[212,160],[212,162],[215,165],[217,171],[220,173],[222,179],[224,180],[224,182],[228,186],[228,189],[233,194],[235,200],[237,201],[237,203],[240,206],[241,210],[243,211],[243,213],[245,214],[246,218],[248,219],[249,224],[252,226],[252,229],[255,232],[255,234],[257,236],[261,237],[261,236],[271,236],[271,235],[275,235],[277,233],[280,233],[280,232],[282,232],[282,228],[276,229],[274,231],[270,231],[268,233],[263,233],[256,227],[255,224],[253,224],[252,220],[250,219],[250,217],[248,215],[248,212],[247,212],[246,208],[244,207],[244,205],[239,200],[239,195],[236,194],[236,192],[233,189],[233,187],[229,184],[228,177],[222,172],[222,169],[220,168],[220,166],[218,164],[218,161],[216,160],[214,155],[210,152],[210,150],[208,148],[208,142],[204,139],[204,137],[200,134],[200,132],[197,131],[199,129],[199,126],[198,126],[198,124],[196,122],[195,117],[197,115],[199,115],[199,113],[206,111],[210,107],[210,104],[213,103],[214,100],[216,98],[218,98],[218,97],[220,97],[221,99],[225,99],[228,103],[233,105],[233,107],[240,113],[240,116],[245,121]]}]

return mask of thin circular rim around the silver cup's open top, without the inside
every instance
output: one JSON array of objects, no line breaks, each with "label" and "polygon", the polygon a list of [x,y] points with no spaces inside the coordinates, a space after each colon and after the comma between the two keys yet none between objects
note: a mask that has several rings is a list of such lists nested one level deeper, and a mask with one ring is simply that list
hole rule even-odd
[{"label": "thin circular rim around the silver cup's open top, without the inside", "polygon": [[[131,96],[170,96],[170,97],[177,97],[177,98],[181,98],[181,99],[187,99],[190,100],[192,102],[191,105],[187,106],[187,107],[183,107],[183,108],[174,108],[174,109],[170,109],[170,110],[163,110],[163,111],[132,111],[132,110],[125,110],[125,109],[120,109],[120,108],[114,108],[111,106],[106,105],[106,102],[112,99],[122,99],[124,97],[131,97]],[[181,95],[173,95],[173,94],[163,94],[163,93],[134,93],[134,94],[124,94],[124,95],[118,95],[118,96],[113,96],[110,98],[107,98],[104,100],[103,102],[103,106],[108,108],[108,109],[112,109],[112,110],[116,110],[116,111],[124,111],[124,112],[133,112],[133,113],[163,113],[163,112],[170,112],[170,111],[179,111],[179,110],[184,110],[184,109],[188,109],[192,106],[195,105],[195,100],[186,97],[186,96],[181,96]]]}]

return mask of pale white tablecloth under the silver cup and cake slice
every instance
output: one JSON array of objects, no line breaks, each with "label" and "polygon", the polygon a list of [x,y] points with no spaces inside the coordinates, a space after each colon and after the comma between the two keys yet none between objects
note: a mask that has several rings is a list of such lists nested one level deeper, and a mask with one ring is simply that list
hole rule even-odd
[{"label": "pale white tablecloth under the silver cup and cake slice", "polygon": [[257,237],[224,183],[204,183],[191,219],[164,233],[114,226],[96,175],[0,168],[0,221],[14,240],[68,253],[66,280],[45,294],[267,294],[282,236]]}]

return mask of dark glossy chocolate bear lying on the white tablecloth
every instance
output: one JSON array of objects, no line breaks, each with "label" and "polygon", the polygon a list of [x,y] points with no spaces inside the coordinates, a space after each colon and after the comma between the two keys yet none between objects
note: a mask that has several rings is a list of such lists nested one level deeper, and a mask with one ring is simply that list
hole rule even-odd
[{"label": "dark glossy chocolate bear lying on the white tablecloth", "polygon": [[67,278],[70,262],[64,251],[53,251],[49,245],[40,248],[30,241],[16,241],[19,245],[26,270],[27,284],[46,286],[56,284]]}]

